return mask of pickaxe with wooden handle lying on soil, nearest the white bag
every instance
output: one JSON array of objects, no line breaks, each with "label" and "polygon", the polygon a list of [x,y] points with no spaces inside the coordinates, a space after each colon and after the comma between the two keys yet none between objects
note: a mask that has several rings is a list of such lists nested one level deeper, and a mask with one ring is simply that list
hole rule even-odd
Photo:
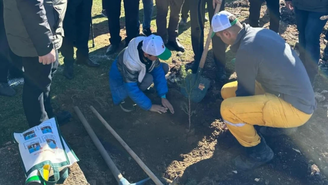
[{"label": "pickaxe with wooden handle lying on soil, nearest the white bag", "polygon": [[118,170],[118,168],[116,167],[116,165],[113,162],[112,158],[108,155],[108,153],[105,150],[104,146],[100,143],[98,137],[96,136],[96,134],[92,130],[91,126],[89,125],[89,123],[85,119],[85,117],[83,116],[83,114],[80,111],[80,109],[77,106],[74,106],[74,110],[75,110],[77,116],[79,117],[80,121],[82,122],[83,126],[87,130],[87,132],[88,132],[89,136],[91,137],[94,145],[97,147],[97,149],[99,150],[101,156],[105,160],[107,166],[109,167],[109,169],[113,173],[116,181],[118,182],[118,185],[142,185],[142,184],[144,184],[145,182],[147,182],[150,179],[148,177],[148,178],[143,179],[143,180],[141,180],[139,182],[136,182],[136,183],[131,184],[126,178],[124,178],[123,175]]}]

